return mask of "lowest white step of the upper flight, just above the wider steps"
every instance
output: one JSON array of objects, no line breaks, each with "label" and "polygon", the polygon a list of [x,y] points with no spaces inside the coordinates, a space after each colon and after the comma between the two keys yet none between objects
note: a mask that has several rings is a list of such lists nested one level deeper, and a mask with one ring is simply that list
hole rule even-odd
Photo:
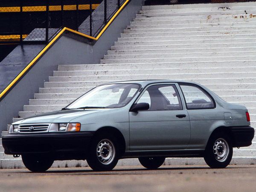
[{"label": "lowest white step of the upper flight, just above the wider steps", "polygon": [[153,62],[184,62],[184,61],[251,61],[255,60],[256,55],[242,55],[242,56],[209,56],[209,57],[201,57],[201,55],[194,55],[193,57],[177,57],[177,58],[127,58],[127,59],[101,59],[101,64],[112,64],[112,63],[153,63]]}]

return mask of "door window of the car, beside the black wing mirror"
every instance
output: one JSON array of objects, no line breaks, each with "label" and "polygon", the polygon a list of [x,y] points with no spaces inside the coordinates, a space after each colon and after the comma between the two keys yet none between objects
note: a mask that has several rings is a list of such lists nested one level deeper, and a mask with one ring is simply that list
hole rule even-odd
[{"label": "door window of the car, beside the black wing mirror", "polygon": [[175,85],[152,85],[147,88],[137,103],[146,102],[149,111],[182,110],[180,96]]}]

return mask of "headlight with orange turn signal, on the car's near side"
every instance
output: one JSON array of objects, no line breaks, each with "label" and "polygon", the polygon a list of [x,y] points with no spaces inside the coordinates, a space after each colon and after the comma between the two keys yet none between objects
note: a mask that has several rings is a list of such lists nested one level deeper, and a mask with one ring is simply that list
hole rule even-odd
[{"label": "headlight with orange turn signal, on the car's near side", "polygon": [[80,131],[80,123],[52,123],[49,132],[54,131]]}]

